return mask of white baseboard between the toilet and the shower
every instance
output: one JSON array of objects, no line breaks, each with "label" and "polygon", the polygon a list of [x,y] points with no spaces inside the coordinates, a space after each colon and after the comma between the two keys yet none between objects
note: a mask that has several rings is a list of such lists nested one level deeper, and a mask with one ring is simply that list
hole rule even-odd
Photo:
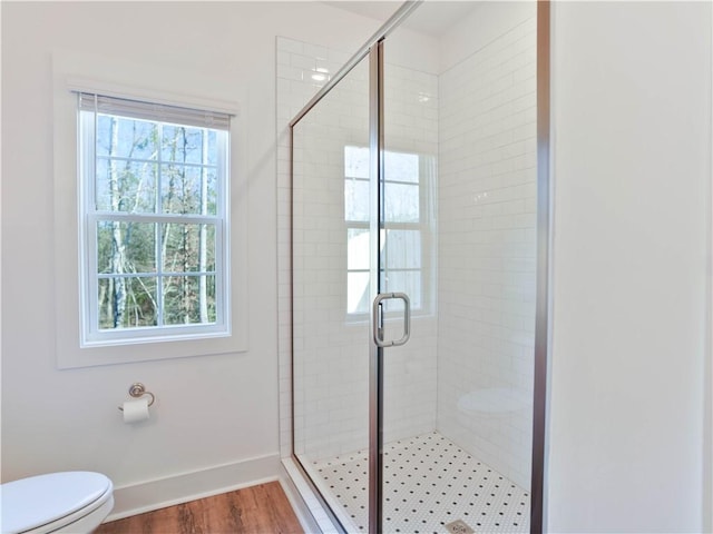
[{"label": "white baseboard between the toilet and the shower", "polygon": [[280,455],[271,454],[115,487],[114,510],[105,523],[255,484],[277,481],[283,473]]}]

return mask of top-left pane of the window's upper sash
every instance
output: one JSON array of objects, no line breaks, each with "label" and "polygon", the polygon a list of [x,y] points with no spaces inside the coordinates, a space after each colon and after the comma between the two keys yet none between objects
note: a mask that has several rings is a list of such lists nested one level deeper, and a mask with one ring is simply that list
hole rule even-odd
[{"label": "top-left pane of the window's upper sash", "polygon": [[155,122],[97,115],[97,156],[156,159],[157,139]]}]

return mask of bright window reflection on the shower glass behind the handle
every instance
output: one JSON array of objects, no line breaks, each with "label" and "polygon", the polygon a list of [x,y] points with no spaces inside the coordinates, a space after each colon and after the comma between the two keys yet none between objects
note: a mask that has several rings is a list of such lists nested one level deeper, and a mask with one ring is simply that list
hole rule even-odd
[{"label": "bright window reflection on the shower glass behind the handle", "polygon": [[[404,291],[413,313],[429,310],[432,158],[385,151],[381,231],[382,291]],[[369,314],[369,148],[344,147],[344,219],[346,221],[346,312]],[[389,303],[391,304],[391,303]]]}]

